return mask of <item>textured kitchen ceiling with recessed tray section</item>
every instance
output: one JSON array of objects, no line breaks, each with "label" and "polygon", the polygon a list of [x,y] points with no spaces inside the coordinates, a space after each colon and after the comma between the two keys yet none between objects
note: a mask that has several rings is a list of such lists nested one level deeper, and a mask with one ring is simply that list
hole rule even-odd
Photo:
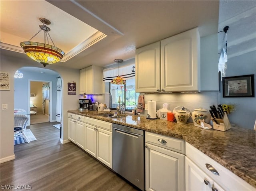
[{"label": "textured kitchen ceiling with recessed tray section", "polygon": [[[216,34],[224,26],[229,26],[228,53],[231,57],[256,48],[256,1],[1,0],[0,3],[1,48],[2,42],[12,40],[12,44],[18,47],[21,41],[18,37],[23,38],[22,41],[31,38],[39,30],[40,17],[52,21],[50,35],[57,47],[67,51],[70,50],[68,46],[81,44],[90,36],[83,28],[86,24],[107,35],[67,61],[54,64],[56,66],[74,69],[89,65],[104,67],[113,64],[117,58],[124,61],[134,58],[138,47],[197,26],[200,36]],[[3,3],[11,6],[4,10]],[[5,33],[11,36],[4,37],[2,34]],[[218,33],[219,45],[222,36]],[[23,53],[6,50],[1,54],[26,57]],[[47,67],[50,69],[51,65]]]}]

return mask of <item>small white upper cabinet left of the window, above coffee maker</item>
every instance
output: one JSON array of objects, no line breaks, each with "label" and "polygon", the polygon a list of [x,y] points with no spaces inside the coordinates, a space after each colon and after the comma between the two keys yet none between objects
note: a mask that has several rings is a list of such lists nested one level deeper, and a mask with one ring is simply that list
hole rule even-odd
[{"label": "small white upper cabinet left of the window, above coffee maker", "polygon": [[103,68],[91,65],[79,71],[79,94],[102,94]]}]

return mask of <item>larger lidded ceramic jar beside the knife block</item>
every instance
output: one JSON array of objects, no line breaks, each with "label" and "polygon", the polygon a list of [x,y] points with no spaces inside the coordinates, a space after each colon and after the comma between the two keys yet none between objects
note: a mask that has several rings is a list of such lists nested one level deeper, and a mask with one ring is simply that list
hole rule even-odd
[{"label": "larger lidded ceramic jar beside the knife block", "polygon": [[205,123],[209,123],[211,120],[210,112],[207,109],[198,108],[190,112],[190,116],[194,122],[194,126],[201,127],[201,121],[204,120]]}]

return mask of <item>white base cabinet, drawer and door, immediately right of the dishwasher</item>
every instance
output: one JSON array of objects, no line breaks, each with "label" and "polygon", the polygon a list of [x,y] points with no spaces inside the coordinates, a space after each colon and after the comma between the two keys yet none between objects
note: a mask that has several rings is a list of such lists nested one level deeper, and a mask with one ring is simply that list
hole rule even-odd
[{"label": "white base cabinet, drawer and door, immediately right of the dishwasher", "polygon": [[150,132],[145,136],[146,191],[185,190],[185,155],[172,151],[174,144],[184,152],[184,141]]}]

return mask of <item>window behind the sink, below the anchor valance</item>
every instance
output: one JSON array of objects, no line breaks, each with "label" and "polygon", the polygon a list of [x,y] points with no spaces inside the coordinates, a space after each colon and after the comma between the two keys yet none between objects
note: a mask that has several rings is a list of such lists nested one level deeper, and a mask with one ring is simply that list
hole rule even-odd
[{"label": "window behind the sink, below the anchor valance", "polygon": [[116,109],[119,105],[120,96],[121,108],[124,105],[126,111],[131,111],[137,107],[138,96],[140,93],[135,92],[135,78],[127,79],[126,85],[115,85],[110,83],[110,109]]}]

